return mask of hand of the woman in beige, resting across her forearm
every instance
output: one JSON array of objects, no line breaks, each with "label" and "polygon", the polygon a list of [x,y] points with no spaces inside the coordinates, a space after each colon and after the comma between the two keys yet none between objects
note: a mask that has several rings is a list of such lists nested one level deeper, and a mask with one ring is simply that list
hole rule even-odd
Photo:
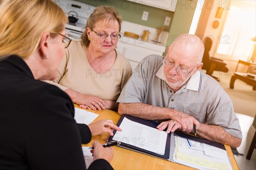
[{"label": "hand of the woman in beige, resting across her forearm", "polygon": [[93,95],[78,94],[73,100],[74,103],[79,104],[79,107],[83,109],[102,110],[105,109],[105,102]]}]

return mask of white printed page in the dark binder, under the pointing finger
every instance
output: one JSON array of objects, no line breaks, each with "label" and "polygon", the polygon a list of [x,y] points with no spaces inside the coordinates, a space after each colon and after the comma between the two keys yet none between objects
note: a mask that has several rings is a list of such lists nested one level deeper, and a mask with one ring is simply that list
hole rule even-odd
[{"label": "white printed page in the dark binder, under the pointing finger", "polygon": [[119,126],[122,132],[116,131],[113,140],[164,155],[167,133],[153,127],[124,118]]}]

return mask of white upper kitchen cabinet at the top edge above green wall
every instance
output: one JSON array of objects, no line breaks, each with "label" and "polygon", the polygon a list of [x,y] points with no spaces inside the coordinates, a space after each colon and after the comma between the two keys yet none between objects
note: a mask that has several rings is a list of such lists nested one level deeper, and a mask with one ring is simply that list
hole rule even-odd
[{"label": "white upper kitchen cabinet at the top edge above green wall", "polygon": [[160,9],[175,12],[177,0],[128,0],[143,5],[153,6]]}]

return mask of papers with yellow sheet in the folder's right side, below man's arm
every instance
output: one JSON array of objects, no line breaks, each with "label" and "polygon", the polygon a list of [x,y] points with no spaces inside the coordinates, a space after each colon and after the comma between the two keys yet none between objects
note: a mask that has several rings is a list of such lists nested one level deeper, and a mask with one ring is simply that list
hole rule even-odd
[{"label": "papers with yellow sheet in the folder's right side, below man's arm", "polygon": [[175,136],[173,160],[200,170],[232,170],[226,150]]}]

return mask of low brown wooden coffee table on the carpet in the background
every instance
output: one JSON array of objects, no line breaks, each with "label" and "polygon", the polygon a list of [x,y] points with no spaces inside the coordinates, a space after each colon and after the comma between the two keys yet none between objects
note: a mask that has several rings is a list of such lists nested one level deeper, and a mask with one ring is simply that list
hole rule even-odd
[{"label": "low brown wooden coffee table on the carpet in the background", "polygon": [[250,78],[246,73],[241,72],[234,72],[234,75],[230,79],[230,89],[234,89],[234,83],[236,79],[244,81],[245,83],[253,86],[253,90],[256,90],[256,79]]}]

